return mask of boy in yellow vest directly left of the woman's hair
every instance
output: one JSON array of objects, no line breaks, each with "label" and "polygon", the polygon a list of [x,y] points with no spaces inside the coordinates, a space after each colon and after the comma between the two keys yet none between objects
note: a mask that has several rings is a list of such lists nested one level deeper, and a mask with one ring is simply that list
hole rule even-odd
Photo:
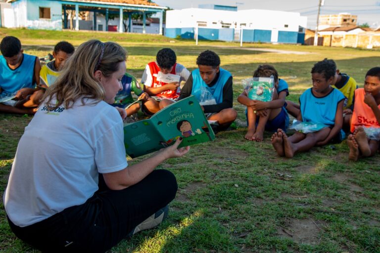
[{"label": "boy in yellow vest directly left of the woman's hair", "polygon": [[40,84],[45,84],[46,86],[53,84],[59,76],[62,67],[65,65],[66,60],[74,53],[74,51],[74,46],[69,42],[58,42],[54,46],[54,60],[48,62],[41,68]]}]

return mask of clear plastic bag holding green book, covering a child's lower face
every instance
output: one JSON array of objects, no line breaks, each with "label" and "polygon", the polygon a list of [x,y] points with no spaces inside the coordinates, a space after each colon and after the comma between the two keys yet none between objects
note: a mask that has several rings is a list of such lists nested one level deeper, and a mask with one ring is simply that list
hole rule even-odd
[{"label": "clear plastic bag holding green book, covering a child's lower face", "polygon": [[272,100],[275,82],[271,77],[254,77],[243,81],[247,97],[252,100],[268,102]]}]

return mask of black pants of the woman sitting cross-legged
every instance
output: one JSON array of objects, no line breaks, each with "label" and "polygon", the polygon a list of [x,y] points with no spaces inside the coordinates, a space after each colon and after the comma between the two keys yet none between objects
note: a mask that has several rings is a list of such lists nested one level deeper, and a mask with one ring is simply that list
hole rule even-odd
[{"label": "black pants of the woman sitting cross-legged", "polygon": [[141,182],[113,191],[99,176],[99,190],[80,206],[26,227],[9,219],[13,233],[43,252],[105,252],[176,196],[173,173],[158,169]]}]

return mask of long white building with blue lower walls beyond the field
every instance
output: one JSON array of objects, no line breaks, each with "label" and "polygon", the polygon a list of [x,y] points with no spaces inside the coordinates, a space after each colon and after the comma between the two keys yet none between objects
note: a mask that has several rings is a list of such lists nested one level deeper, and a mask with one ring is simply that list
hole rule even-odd
[{"label": "long white building with blue lower walls beyond the field", "polygon": [[166,12],[166,36],[200,40],[303,43],[307,17],[298,12],[199,5]]}]

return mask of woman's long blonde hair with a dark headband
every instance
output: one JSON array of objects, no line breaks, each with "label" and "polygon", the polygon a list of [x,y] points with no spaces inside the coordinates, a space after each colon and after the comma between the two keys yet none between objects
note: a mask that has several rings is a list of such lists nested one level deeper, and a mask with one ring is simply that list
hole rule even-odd
[{"label": "woman's long blonde hair with a dark headband", "polygon": [[[84,42],[67,60],[61,75],[45,92],[43,101],[50,110],[54,110],[62,104],[68,109],[79,98],[83,104],[86,98],[103,100],[105,91],[95,79],[95,71],[100,70],[104,77],[109,77],[126,59],[126,50],[117,43],[98,40]],[[57,102],[51,103],[52,99]]]}]

